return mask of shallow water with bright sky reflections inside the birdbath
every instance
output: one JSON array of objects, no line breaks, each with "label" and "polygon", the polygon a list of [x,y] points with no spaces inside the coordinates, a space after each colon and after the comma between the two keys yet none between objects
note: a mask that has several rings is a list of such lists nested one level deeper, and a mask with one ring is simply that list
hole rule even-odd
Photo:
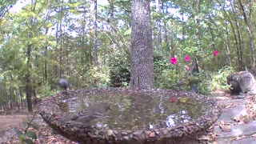
[{"label": "shallow water with bright sky reflections inside the birdbath", "polygon": [[[110,129],[154,129],[164,124],[175,126],[190,122],[206,113],[207,106],[202,102],[196,105],[181,102],[170,102],[170,96],[150,94],[103,94],[76,95],[77,98],[66,99],[58,103],[63,113],[77,114],[78,111],[95,102],[109,102],[111,110],[105,117],[94,122],[97,126]],[[161,124],[159,124],[161,123]]]}]

